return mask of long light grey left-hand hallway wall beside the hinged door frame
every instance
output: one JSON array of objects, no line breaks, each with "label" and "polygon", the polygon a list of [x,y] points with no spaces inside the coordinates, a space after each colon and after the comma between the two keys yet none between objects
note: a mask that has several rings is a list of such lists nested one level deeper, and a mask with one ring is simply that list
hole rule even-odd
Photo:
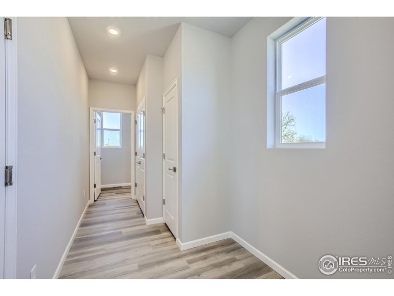
[{"label": "long light grey left-hand hallway wall beside the hinged door frame", "polygon": [[67,19],[18,18],[17,278],[52,278],[88,203],[88,115]]}]

